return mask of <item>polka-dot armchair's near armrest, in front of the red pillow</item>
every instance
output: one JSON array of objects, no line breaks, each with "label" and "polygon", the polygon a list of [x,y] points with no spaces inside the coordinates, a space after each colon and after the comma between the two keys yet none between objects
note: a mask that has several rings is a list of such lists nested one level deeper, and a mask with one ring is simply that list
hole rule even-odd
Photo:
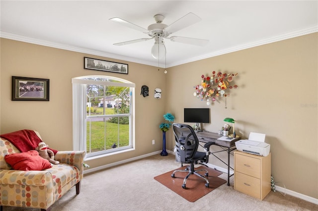
[{"label": "polka-dot armchair's near armrest, in front of the red pillow", "polygon": [[48,171],[0,171],[0,184],[44,186],[53,183],[52,174]]}]

